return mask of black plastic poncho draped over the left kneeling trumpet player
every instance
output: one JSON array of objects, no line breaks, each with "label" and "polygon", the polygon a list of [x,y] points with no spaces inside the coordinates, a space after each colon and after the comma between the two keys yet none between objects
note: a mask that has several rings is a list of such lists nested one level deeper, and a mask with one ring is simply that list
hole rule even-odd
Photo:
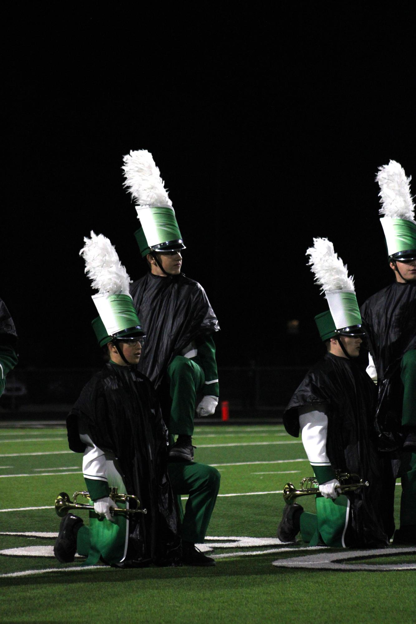
[{"label": "black plastic poncho draped over the left kneeling trumpet player", "polygon": [[130,517],[127,560],[177,563],[179,520],[168,479],[167,431],[148,379],[133,366],[111,363],[90,379],[67,418],[69,447],[84,452],[79,414],[87,419],[92,441],[115,453],[128,494],[147,509]]}]

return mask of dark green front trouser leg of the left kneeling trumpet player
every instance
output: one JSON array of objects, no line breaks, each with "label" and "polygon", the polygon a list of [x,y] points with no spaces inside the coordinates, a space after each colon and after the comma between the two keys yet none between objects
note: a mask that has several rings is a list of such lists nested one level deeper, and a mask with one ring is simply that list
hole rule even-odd
[{"label": "dark green front trouser leg of the left kneeling trumpet player", "polygon": [[173,494],[189,494],[181,524],[181,539],[201,544],[210,524],[221,475],[213,466],[197,462],[171,462],[168,474]]}]

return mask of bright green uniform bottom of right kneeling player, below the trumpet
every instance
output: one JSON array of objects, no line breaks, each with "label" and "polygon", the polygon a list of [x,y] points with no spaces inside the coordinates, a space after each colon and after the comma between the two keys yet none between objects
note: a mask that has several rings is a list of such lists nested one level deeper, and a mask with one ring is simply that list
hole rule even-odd
[{"label": "bright green uniform bottom of right kneeling player, below the trumpet", "polygon": [[322,544],[345,548],[344,540],[349,520],[349,500],[341,494],[335,500],[317,496],[316,514],[301,514],[302,540],[309,546]]}]

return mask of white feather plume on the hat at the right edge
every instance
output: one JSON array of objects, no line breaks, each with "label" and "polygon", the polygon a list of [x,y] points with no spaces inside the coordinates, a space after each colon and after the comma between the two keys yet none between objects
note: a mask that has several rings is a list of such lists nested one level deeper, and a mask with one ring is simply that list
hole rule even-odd
[{"label": "white feather plume on the hat at the right edge", "polygon": [[395,160],[388,165],[379,167],[375,178],[380,185],[380,215],[385,217],[406,219],[415,223],[415,204],[410,195],[410,180],[406,177],[404,168]]}]

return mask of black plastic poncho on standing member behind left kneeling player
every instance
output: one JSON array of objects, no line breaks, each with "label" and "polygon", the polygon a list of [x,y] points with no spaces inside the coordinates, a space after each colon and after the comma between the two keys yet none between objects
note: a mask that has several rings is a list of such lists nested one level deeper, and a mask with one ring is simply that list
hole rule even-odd
[{"label": "black plastic poncho on standing member behind left kneeling player", "polygon": [[138,370],[158,388],[170,361],[220,326],[205,290],[183,273],[160,277],[149,272],[132,284],[130,294],[146,333]]}]

